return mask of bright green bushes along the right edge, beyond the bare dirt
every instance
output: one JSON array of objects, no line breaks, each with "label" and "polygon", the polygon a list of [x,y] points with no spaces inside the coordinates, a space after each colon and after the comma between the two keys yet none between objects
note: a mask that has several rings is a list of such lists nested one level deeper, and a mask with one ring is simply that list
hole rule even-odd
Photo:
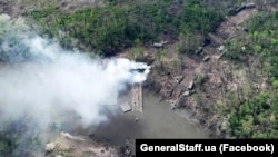
[{"label": "bright green bushes along the right edge, beyond the bare dirt", "polygon": [[[278,138],[278,13],[260,12],[248,22],[244,40],[227,45],[227,58],[244,63],[250,79],[267,78],[268,89],[255,88],[231,98],[229,133],[237,138]],[[246,50],[242,51],[242,47]],[[252,63],[246,61],[252,59]],[[247,90],[247,89],[242,89]],[[237,95],[237,94],[235,94]]]}]

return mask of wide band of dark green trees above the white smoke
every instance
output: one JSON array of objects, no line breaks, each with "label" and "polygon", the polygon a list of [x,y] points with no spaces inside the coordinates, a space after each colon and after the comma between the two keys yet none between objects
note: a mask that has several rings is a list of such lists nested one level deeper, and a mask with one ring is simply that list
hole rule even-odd
[{"label": "wide band of dark green trees above the white smoke", "polygon": [[113,0],[105,7],[75,12],[44,8],[27,12],[27,16],[40,23],[42,32],[60,38],[64,47],[75,45],[70,40],[73,37],[79,40],[79,48],[86,47],[103,56],[135,46],[138,40],[142,43],[156,41],[160,35],[173,39],[186,35],[190,38],[185,40],[191,42],[195,32],[212,31],[222,20],[220,12],[201,6],[197,0],[185,3]]}]

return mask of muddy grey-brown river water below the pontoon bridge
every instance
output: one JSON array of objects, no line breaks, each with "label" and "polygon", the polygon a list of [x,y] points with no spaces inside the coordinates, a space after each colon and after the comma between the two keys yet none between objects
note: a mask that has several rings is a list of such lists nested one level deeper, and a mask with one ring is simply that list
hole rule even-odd
[{"label": "muddy grey-brown river water below the pontoon bridge", "polygon": [[[130,96],[119,101],[126,100],[130,102]],[[168,102],[159,101],[157,96],[143,91],[142,112],[122,112],[118,107],[117,114],[110,117],[109,122],[101,124],[89,133],[91,137],[107,139],[113,145],[125,145],[136,138],[209,138],[200,126],[187,117],[187,112],[171,110]]]}]

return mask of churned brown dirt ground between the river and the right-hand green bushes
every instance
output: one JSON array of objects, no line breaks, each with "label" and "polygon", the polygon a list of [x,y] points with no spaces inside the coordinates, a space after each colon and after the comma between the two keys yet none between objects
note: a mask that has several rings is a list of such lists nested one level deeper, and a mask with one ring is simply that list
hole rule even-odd
[{"label": "churned brown dirt ground between the river and the right-hand green bushes", "polygon": [[[179,66],[169,66],[173,62],[176,43],[167,46],[167,60],[163,61],[163,68],[160,65],[155,65],[150,79],[146,85],[149,89],[156,89],[161,95],[161,100],[175,101],[181,99],[180,108],[190,110],[191,118],[199,121],[207,128],[211,137],[224,137],[222,126],[227,124],[226,119],[219,118],[214,115],[216,108],[214,102],[224,97],[222,87],[226,85],[227,90],[236,90],[238,87],[246,82],[245,70],[239,69],[229,61],[221,58],[224,55],[224,43],[227,39],[231,39],[237,33],[244,32],[244,23],[250,17],[258,12],[258,8],[245,9],[236,16],[227,17],[226,20],[219,26],[215,33],[209,35],[210,43],[203,47],[202,52],[193,57],[182,57],[182,68]],[[156,53],[156,49],[147,49],[146,55]],[[209,57],[208,61],[202,61],[205,57]],[[157,68],[156,68],[157,67]],[[176,77],[183,76],[183,79],[177,84]],[[196,81],[196,78],[203,79],[205,84],[199,84],[195,96],[182,97],[181,94],[187,91],[190,81]],[[200,106],[201,105],[201,106]]]}]

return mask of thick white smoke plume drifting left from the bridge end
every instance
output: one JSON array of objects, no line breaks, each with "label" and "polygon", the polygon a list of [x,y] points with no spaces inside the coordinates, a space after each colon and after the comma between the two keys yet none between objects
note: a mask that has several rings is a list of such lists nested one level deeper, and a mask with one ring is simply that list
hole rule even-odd
[{"label": "thick white smoke plume drifting left from the bridge end", "polygon": [[103,109],[115,105],[120,91],[145,81],[149,73],[150,67],[142,62],[91,58],[36,35],[13,36],[0,42],[4,62],[0,65],[0,111],[9,117],[28,114],[48,124],[57,111],[73,111],[83,125],[98,125],[108,120]]}]

